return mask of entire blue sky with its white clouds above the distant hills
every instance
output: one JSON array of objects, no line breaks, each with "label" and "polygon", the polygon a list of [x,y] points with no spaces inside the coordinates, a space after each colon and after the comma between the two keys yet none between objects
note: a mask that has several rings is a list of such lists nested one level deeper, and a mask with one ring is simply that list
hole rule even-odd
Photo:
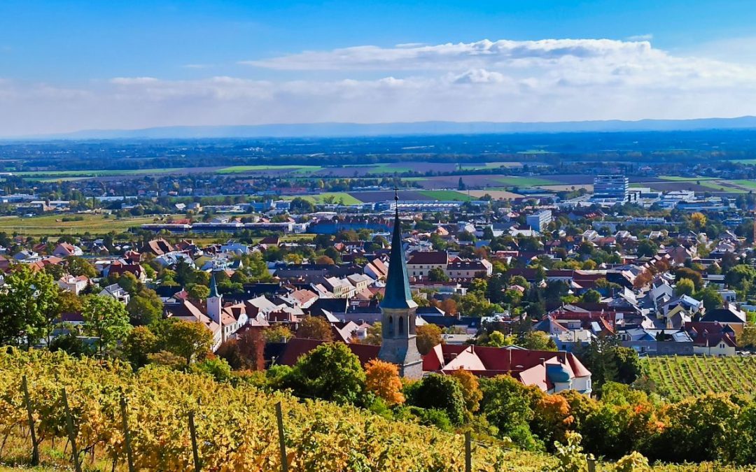
[{"label": "entire blue sky with its white clouds above the distant hills", "polygon": [[754,20],[752,0],[3,0],[0,134],[756,114]]}]

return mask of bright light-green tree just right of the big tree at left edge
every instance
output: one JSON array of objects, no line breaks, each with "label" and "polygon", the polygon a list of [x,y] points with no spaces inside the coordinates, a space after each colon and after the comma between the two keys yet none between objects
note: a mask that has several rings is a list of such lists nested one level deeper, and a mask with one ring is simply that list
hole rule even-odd
[{"label": "bright light-green tree just right of the big tree at left edge", "polygon": [[122,341],[132,329],[126,307],[115,298],[107,296],[90,295],[85,298],[82,318],[84,332],[98,338],[100,355],[105,349]]}]

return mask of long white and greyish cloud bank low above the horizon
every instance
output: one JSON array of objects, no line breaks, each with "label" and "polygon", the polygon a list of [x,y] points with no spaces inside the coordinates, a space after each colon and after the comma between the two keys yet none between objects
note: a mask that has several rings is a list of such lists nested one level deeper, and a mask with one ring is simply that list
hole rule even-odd
[{"label": "long white and greyish cloud bank low above the horizon", "polygon": [[756,114],[756,66],[677,56],[647,40],[358,46],[240,63],[256,76],[268,71],[302,79],[135,76],[63,88],[0,78],[0,135],[166,125]]}]

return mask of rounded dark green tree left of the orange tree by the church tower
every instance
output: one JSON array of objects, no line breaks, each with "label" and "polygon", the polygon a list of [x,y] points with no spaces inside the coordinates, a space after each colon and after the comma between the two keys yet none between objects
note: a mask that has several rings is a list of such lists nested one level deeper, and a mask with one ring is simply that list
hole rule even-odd
[{"label": "rounded dark green tree left of the orange tree by the church tower", "polygon": [[325,343],[300,357],[283,385],[296,395],[359,404],[365,392],[365,372],[346,344]]}]

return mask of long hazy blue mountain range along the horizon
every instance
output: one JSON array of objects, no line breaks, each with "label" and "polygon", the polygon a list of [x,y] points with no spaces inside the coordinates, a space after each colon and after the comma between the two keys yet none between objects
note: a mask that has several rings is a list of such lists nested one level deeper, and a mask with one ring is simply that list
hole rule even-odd
[{"label": "long hazy blue mountain range along the horizon", "polygon": [[[166,126],[135,130],[84,130],[28,139],[192,139],[222,137],[359,137],[423,134],[511,134],[621,131],[756,129],[756,116],[705,119],[642,119],[587,122],[306,123],[291,125]],[[16,138],[22,139],[22,138]]]}]

